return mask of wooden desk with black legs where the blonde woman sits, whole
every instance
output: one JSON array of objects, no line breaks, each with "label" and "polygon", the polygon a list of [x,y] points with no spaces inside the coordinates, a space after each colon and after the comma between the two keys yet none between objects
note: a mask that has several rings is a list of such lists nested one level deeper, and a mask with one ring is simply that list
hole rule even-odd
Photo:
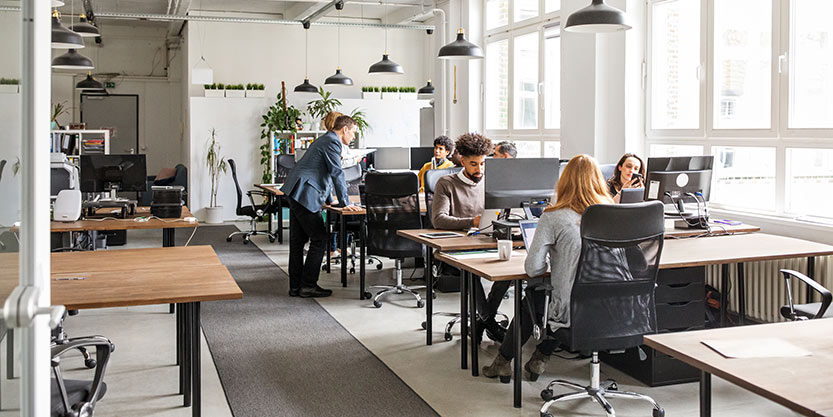
[{"label": "wooden desk with black legs where the blonde woman sits, whole", "polygon": [[[728,287],[729,263],[742,263],[752,261],[764,261],[774,259],[786,259],[797,257],[810,257],[831,255],[833,246],[801,239],[793,239],[783,236],[768,235],[764,233],[739,234],[728,236],[716,236],[702,239],[667,239],[663,245],[662,256],[660,257],[660,269],[680,268],[705,265],[724,265],[722,276],[724,286]],[[467,297],[465,292],[472,287],[474,276],[486,278],[490,281],[515,281],[515,317],[520,314],[521,281],[527,278],[524,272],[524,261],[526,251],[514,251],[512,259],[500,261],[497,255],[490,258],[456,259],[447,253],[439,253],[437,259],[464,271],[465,277],[461,277],[461,306],[460,312],[463,315],[461,321],[469,320],[468,327],[471,327],[472,334],[476,332],[476,298],[473,292]],[[466,304],[469,304],[467,306]],[[725,304],[721,309],[721,316],[725,317]],[[739,304],[738,309],[742,311],[743,305]],[[472,313],[468,313],[468,311]],[[725,319],[724,319],[725,320]],[[742,329],[744,327],[738,327]],[[520,352],[520,326],[515,327],[515,406],[520,407],[521,399],[521,352]],[[465,369],[466,363],[466,340],[468,334],[461,330],[460,335],[463,343],[461,364]],[[477,376],[477,346],[471,345],[472,375]]]}]

